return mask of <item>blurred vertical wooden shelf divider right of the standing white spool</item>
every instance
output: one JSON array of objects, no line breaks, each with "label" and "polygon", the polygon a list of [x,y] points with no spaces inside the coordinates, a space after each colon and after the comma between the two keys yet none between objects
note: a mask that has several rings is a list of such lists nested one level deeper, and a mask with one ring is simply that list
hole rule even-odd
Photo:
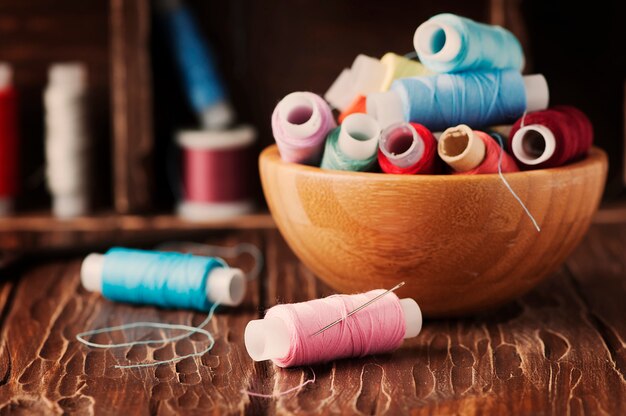
[{"label": "blurred vertical wooden shelf divider right of the standing white spool", "polygon": [[150,2],[111,0],[115,209],[146,211],[154,191]]}]

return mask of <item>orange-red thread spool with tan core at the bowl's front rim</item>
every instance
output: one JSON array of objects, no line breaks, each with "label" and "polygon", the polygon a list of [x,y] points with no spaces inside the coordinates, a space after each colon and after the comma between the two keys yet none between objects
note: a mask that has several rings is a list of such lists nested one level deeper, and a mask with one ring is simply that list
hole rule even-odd
[{"label": "orange-red thread spool with tan core at the bowl's front rim", "polygon": [[518,172],[519,168],[493,137],[461,124],[443,132],[439,138],[438,152],[455,174],[477,175],[498,173],[502,155],[502,173]]}]

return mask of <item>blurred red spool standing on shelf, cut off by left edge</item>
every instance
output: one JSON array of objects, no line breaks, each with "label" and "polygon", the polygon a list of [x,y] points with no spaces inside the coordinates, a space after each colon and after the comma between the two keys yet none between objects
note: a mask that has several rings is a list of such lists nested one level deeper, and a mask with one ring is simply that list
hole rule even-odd
[{"label": "blurred red spool standing on shelf, cut off by left edge", "polygon": [[17,94],[11,68],[0,63],[0,215],[12,209],[17,194]]}]

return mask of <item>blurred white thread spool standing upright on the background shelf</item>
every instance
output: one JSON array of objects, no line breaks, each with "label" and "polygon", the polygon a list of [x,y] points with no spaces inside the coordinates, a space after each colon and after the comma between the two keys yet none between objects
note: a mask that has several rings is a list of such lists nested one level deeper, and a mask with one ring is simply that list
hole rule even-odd
[{"label": "blurred white thread spool standing upright on the background shelf", "polygon": [[44,93],[46,109],[46,177],[52,211],[60,218],[88,210],[89,136],[87,73],[81,63],[54,64]]}]

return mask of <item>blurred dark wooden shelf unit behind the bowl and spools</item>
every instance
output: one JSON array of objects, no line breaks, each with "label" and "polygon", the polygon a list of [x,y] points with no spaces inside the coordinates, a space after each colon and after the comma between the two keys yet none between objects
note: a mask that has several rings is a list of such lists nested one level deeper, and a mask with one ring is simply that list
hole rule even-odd
[{"label": "blurred dark wooden shelf unit behind the bowl and spools", "polygon": [[[451,12],[506,26],[523,44],[525,71],[541,72],[550,80],[552,102],[571,103],[590,116],[596,143],[607,151],[611,165],[607,208],[597,218],[608,222],[623,218],[626,55],[615,55],[617,47],[597,47],[607,41],[605,33],[612,33],[612,39],[624,38],[626,26],[616,4],[593,8],[543,0],[410,4],[187,0],[186,4],[213,45],[239,121],[259,132],[257,151],[273,141],[269,120],[280,97],[294,90],[323,93],[359,53],[410,52],[418,22]],[[0,2],[0,60],[14,67],[19,93],[23,188],[18,215],[0,219],[0,250],[139,244],[223,228],[273,226],[266,212],[214,223],[154,214],[174,210],[176,191],[167,173],[175,154],[174,134],[197,121],[163,47],[153,5],[150,0]],[[581,61],[572,64],[572,56]],[[50,200],[43,180],[42,92],[50,64],[68,60],[82,61],[88,68],[97,155],[92,183],[95,212],[100,214],[63,221],[46,213]],[[250,180],[258,185],[258,177]],[[257,205],[264,207],[260,186],[256,189]]]}]

